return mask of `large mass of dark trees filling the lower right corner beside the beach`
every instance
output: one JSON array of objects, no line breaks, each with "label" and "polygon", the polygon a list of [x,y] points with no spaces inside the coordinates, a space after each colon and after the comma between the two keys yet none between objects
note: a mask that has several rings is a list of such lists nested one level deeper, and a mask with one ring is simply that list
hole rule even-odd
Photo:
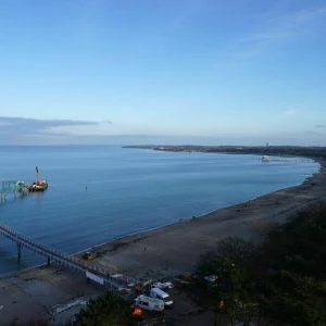
[{"label": "large mass of dark trees filling the lower right corner beside the beach", "polygon": [[199,259],[195,274],[196,301],[231,323],[254,316],[260,326],[325,326],[326,206],[274,225],[258,246],[220,241]]}]

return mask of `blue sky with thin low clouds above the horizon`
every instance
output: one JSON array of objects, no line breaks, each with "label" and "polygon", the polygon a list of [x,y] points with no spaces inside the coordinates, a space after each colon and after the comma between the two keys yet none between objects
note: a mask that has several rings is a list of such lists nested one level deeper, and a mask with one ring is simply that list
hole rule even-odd
[{"label": "blue sky with thin low clouds above the horizon", "polygon": [[0,145],[326,146],[325,0],[2,0]]}]

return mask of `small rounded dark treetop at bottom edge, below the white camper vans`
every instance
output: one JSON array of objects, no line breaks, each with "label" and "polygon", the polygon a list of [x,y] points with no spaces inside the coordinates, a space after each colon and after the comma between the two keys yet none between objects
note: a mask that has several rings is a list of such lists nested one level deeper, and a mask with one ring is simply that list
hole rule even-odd
[{"label": "small rounded dark treetop at bottom edge, below the white camper vans", "polygon": [[80,326],[133,326],[130,304],[118,294],[106,291],[91,299],[86,309],[76,315]]}]

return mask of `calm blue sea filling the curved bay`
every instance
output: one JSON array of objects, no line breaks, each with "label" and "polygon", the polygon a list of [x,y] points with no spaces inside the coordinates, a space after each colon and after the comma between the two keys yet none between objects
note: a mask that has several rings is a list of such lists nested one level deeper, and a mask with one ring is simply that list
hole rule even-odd
[{"label": "calm blue sea filling the curved bay", "polygon": [[[124,235],[202,215],[301,184],[319,165],[308,159],[262,163],[256,155],[172,153],[117,147],[0,147],[0,180],[49,188],[8,195],[0,222],[75,253]],[[87,190],[86,190],[87,186]],[[43,260],[0,236],[0,274]]]}]

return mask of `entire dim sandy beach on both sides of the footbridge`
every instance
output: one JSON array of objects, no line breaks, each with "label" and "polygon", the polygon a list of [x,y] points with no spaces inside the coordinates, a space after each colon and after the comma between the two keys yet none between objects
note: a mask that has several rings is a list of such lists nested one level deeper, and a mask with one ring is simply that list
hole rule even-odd
[{"label": "entire dim sandy beach on both sides of the footbridge", "polygon": [[[287,188],[249,202],[216,210],[150,231],[127,236],[92,248],[95,263],[138,279],[168,278],[191,272],[197,259],[227,236],[251,237],[269,223],[283,223],[305,206],[326,200],[326,160],[321,172],[298,187]],[[104,289],[54,264],[0,279],[0,325],[17,318],[51,318],[53,325],[74,314],[74,309],[52,316],[53,306],[76,299],[88,300]],[[75,308],[77,310],[77,308]]]}]

